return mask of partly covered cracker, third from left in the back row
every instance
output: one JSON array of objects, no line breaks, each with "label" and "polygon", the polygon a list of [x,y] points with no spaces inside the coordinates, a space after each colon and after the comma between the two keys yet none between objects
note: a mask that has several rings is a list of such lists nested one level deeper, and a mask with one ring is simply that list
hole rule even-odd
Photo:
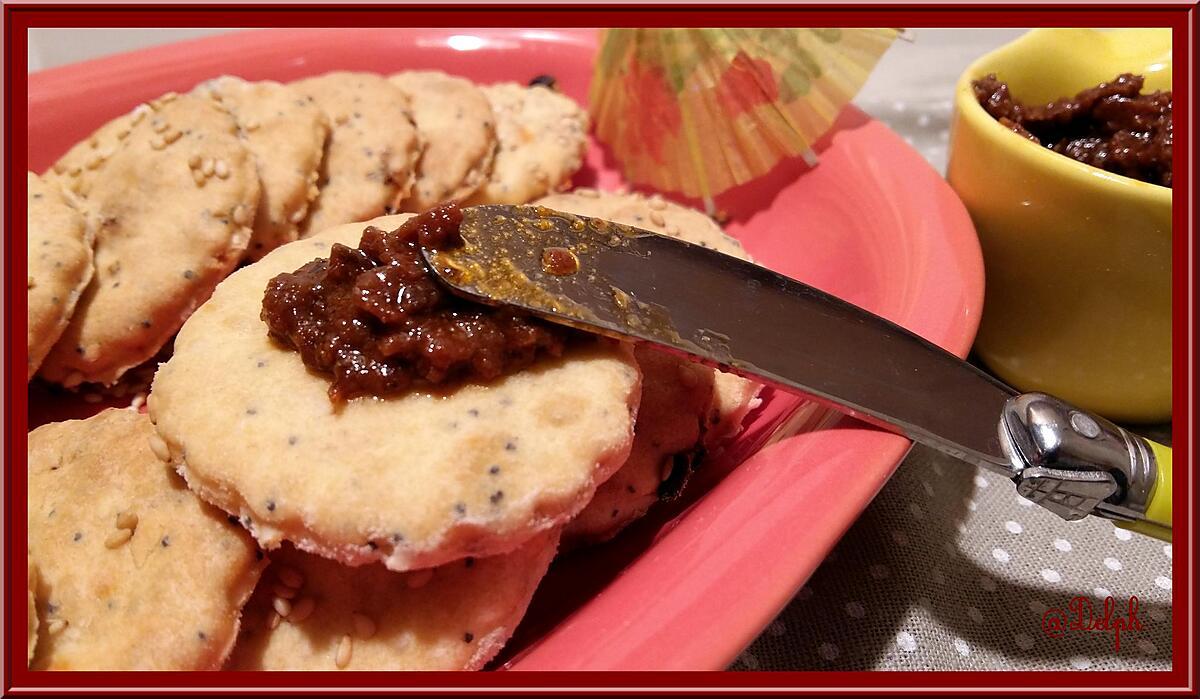
[{"label": "partly covered cracker, third from left in the back row", "polygon": [[246,258],[258,259],[300,237],[317,198],[329,120],[311,98],[272,80],[223,76],[198,90],[233,115],[258,163],[263,192],[246,247]]}]

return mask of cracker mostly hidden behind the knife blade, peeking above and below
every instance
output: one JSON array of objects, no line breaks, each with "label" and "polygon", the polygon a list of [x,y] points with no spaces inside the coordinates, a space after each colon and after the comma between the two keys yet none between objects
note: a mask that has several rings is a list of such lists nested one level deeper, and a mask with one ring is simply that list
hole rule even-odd
[{"label": "cracker mostly hidden behind the knife blade, peeking above and below", "polygon": [[[536,204],[580,216],[595,216],[653,233],[672,235],[742,259],[750,256],[736,238],[726,235],[703,211],[641,193],[601,192],[578,189],[542,197]],[[742,422],[756,405],[762,386],[733,374],[718,371],[715,390],[708,410],[704,444],[709,448],[730,440],[742,430]]]}]

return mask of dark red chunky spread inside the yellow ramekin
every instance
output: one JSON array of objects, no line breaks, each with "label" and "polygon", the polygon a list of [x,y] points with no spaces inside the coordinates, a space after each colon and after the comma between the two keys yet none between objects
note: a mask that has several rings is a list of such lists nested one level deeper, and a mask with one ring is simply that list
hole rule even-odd
[{"label": "dark red chunky spread inside the yellow ramekin", "polygon": [[1055,153],[1111,173],[1171,186],[1171,92],[1141,94],[1145,79],[1123,73],[1074,97],[1022,104],[989,74],[976,98],[992,118]]}]

